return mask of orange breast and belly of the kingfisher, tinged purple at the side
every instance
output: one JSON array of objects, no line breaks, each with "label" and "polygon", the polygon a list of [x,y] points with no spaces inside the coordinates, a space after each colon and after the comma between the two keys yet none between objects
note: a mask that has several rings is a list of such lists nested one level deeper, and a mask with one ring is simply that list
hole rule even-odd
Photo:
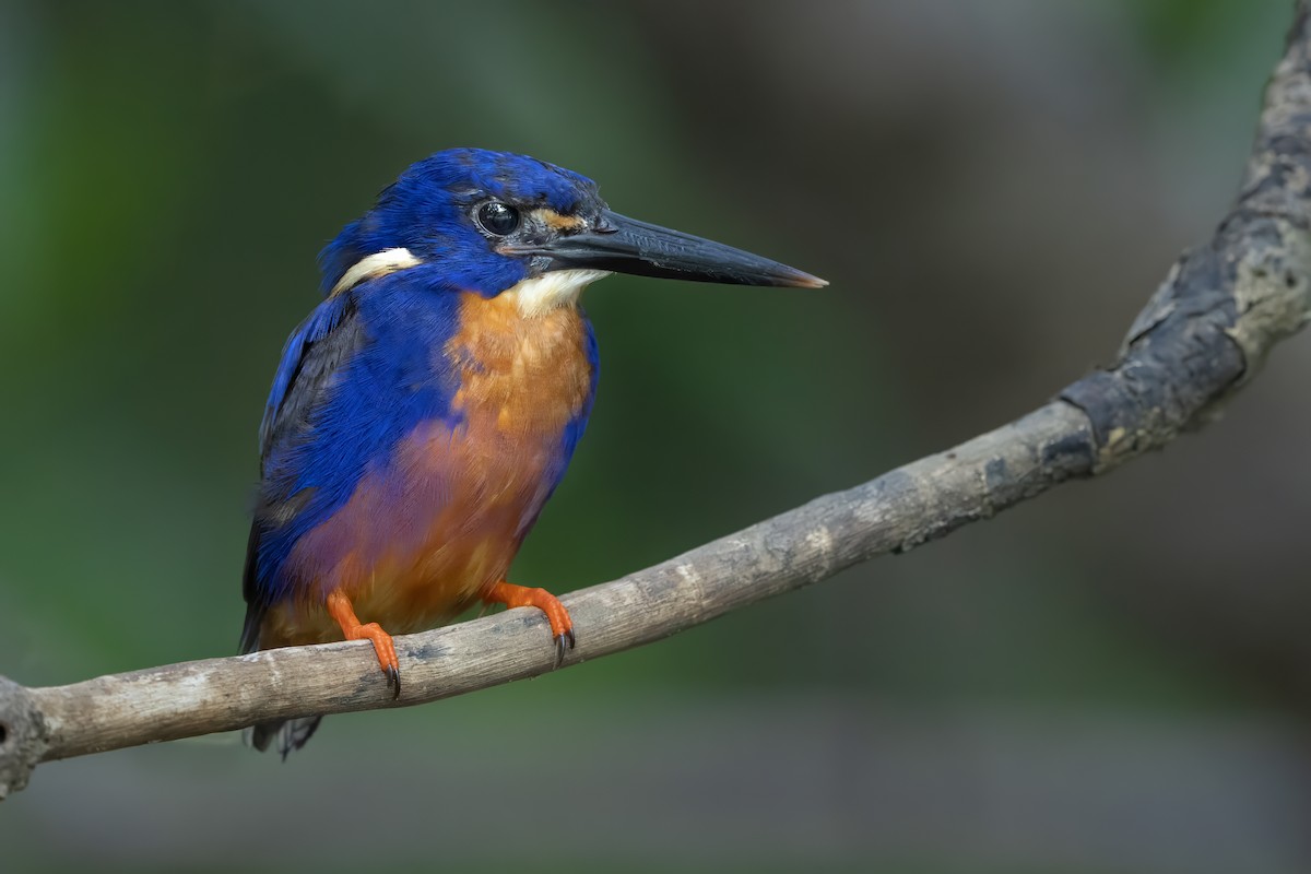
[{"label": "orange breast and belly of the kingfisher, tinged purple at the side", "polygon": [[[465,294],[460,311],[460,330],[433,350],[455,377],[454,415],[410,432],[292,553],[349,544],[316,588],[341,588],[361,621],[392,633],[448,620],[505,578],[590,402],[589,328],[574,307],[524,318],[511,295]],[[270,646],[340,639],[319,604],[274,608],[265,633]]]}]

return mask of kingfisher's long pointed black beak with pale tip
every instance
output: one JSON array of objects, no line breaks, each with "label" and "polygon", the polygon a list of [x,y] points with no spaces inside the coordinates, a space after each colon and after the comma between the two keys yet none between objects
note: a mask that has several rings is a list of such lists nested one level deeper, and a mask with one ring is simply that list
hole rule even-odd
[{"label": "kingfisher's long pointed black beak with pale tip", "polygon": [[606,210],[595,225],[557,237],[532,254],[548,270],[587,267],[638,276],[722,282],[732,286],[822,288],[829,283],[777,261]]}]

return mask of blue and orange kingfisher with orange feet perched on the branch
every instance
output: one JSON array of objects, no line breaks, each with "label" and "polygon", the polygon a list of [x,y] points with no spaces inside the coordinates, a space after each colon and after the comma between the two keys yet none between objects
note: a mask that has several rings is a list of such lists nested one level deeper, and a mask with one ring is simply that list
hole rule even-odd
[{"label": "blue and orange kingfisher with orange feet perched on the branch", "polygon": [[[556,596],[506,574],[591,413],[587,284],[827,284],[612,212],[570,170],[475,148],[413,164],[319,265],[323,301],[287,339],[260,425],[240,649],[370,641],[395,697],[392,634],[479,603],[541,611],[557,664],[576,643]],[[286,757],[321,718],[248,739]]]}]

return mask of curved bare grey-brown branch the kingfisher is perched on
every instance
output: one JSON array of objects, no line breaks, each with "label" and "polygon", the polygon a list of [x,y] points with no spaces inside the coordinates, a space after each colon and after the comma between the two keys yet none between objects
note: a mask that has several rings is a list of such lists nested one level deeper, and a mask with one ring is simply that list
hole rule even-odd
[{"label": "curved bare grey-brown branch the kingfisher is perched on", "polygon": [[[1185,253],[1130,328],[1118,363],[1038,410],[855,489],[818,498],[561,600],[574,664],[899,553],[1071,477],[1092,477],[1209,422],[1311,317],[1311,0],[1266,89],[1234,210]],[[368,642],[288,647],[24,688],[0,677],[0,798],[41,761],[256,722],[437,701],[553,667],[538,611],[396,638],[392,701]]]}]

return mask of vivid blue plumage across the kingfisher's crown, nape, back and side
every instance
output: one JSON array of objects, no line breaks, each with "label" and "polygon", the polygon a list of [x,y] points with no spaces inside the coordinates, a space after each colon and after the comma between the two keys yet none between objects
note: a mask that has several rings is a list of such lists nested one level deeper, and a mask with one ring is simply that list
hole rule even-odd
[{"label": "vivid blue plumage across the kingfisher's crown, nape, back and side", "polygon": [[[252,536],[260,548],[248,599],[271,604],[286,598],[292,580],[283,563],[295,542],[338,510],[366,468],[384,463],[385,452],[420,421],[450,415],[454,388],[427,384],[440,385],[431,350],[456,328],[452,292],[492,296],[528,271],[523,259],[490,252],[465,219],[468,207],[488,197],[536,202],[560,214],[600,204],[595,183],[570,170],[507,152],[450,149],[412,165],[320,253],[325,295],[354,265],[380,252],[406,249],[425,263],[329,296],[287,341],[261,425],[264,512]],[[354,322],[343,332],[350,338],[329,339],[343,321]],[[298,380],[307,364],[340,375],[330,387]],[[427,388],[397,389],[406,384]],[[304,417],[288,415],[302,410]],[[313,423],[305,418],[311,414]],[[288,419],[298,427],[275,434]],[[586,415],[570,430],[566,456],[585,425]],[[288,503],[296,504],[290,519]]]}]

